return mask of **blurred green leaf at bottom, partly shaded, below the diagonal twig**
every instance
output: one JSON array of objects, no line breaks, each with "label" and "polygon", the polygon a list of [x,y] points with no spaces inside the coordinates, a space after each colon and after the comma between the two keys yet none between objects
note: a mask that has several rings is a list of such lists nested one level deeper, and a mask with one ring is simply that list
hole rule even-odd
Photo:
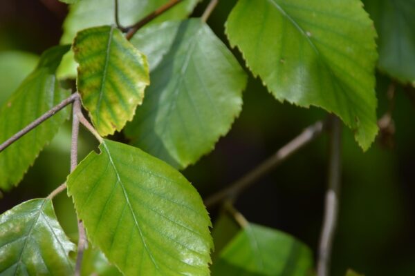
[{"label": "blurred green leaf at bottom, partly shaded, below the diagonal twig", "polygon": [[311,250],[278,230],[249,224],[212,266],[212,275],[304,276],[313,268]]}]

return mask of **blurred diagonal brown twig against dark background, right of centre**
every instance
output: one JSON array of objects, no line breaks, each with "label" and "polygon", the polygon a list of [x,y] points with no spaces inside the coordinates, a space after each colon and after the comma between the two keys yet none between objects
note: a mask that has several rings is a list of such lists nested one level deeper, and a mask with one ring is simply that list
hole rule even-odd
[{"label": "blurred diagonal brown twig against dark background, right of centre", "polygon": [[297,152],[297,150],[313,141],[322,133],[323,129],[324,123],[322,121],[317,121],[317,123],[308,126],[308,128],[306,128],[300,135],[280,148],[273,156],[266,159],[264,162],[259,164],[259,166],[248,172],[246,175],[243,175],[241,179],[230,184],[228,188],[220,190],[218,193],[205,199],[205,206],[211,208],[225,199],[236,198],[239,193],[254,184],[255,181],[261,177],[264,177],[264,175],[267,175],[276,166],[281,164],[282,161],[286,160],[288,157],[291,157],[291,155]]}]

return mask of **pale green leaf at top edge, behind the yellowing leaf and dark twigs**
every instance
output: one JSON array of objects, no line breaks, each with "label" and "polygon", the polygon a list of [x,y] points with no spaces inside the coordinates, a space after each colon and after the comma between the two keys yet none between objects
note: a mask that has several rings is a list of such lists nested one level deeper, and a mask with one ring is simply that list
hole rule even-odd
[{"label": "pale green leaf at top edge, behind the yellowing leaf and dark twigs", "polygon": [[[200,0],[183,0],[174,8],[157,17],[154,22],[187,17]],[[150,12],[153,12],[168,0],[122,0],[118,1],[120,23],[131,26]],[[115,25],[114,0],[82,0],[69,7],[69,13],[64,21],[64,34],[61,43],[71,43],[75,34],[85,28]],[[59,68],[59,77],[75,77],[76,66],[72,55],[64,57],[62,67]]]}]

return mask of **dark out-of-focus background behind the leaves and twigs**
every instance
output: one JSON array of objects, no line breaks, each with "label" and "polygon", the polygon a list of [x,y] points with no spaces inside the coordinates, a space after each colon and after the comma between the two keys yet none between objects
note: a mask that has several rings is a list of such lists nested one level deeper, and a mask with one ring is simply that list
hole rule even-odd
[{"label": "dark out-of-focus background behind the leaves and twigs", "polygon": [[[199,5],[194,16],[205,7]],[[225,41],[223,23],[235,0],[220,1],[208,23]],[[1,0],[0,53],[22,50],[37,55],[59,43],[66,6],[56,0]],[[241,61],[241,55],[234,51]],[[1,62],[1,61],[0,61]],[[241,61],[243,64],[243,62]],[[2,79],[0,82],[7,81]],[[378,74],[378,118],[387,112],[393,81]],[[1,93],[2,91],[0,91]],[[363,153],[343,128],[342,193],[333,251],[333,275],[347,268],[366,275],[415,275],[415,105],[413,88],[396,84],[392,117],[396,131],[378,137]],[[317,108],[280,103],[250,75],[243,111],[210,155],[183,173],[206,197],[255,168],[299,134],[324,119]],[[120,137],[120,136],[118,136]],[[291,233],[314,251],[320,237],[326,188],[327,135],[322,135],[243,193],[238,210],[249,221]],[[80,158],[96,146],[81,132]],[[64,182],[69,170],[70,126],[41,153],[24,181],[0,199],[0,213],[21,201],[44,197]],[[55,209],[69,237],[77,227],[71,199],[62,194]],[[218,210],[210,210],[215,219]]]}]

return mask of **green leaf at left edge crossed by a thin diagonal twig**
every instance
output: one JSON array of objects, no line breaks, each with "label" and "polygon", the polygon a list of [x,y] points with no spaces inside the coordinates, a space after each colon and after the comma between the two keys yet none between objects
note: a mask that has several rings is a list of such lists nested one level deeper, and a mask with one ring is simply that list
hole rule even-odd
[{"label": "green leaf at left edge crossed by a thin diagonal twig", "polygon": [[[60,88],[55,77],[60,59],[68,50],[69,46],[57,46],[46,50],[37,68],[1,106],[0,143],[69,96],[69,91]],[[61,110],[0,152],[0,188],[9,190],[19,183],[42,148],[68,118],[68,111],[67,108]]]}]

